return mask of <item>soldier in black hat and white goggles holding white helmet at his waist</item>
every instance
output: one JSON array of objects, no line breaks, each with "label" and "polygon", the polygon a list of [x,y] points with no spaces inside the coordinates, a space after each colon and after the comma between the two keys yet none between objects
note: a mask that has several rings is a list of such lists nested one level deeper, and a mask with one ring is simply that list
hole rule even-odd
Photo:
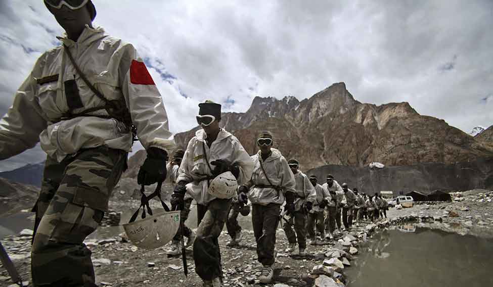
[{"label": "soldier in black hat and white goggles holding white helmet at his waist", "polygon": [[[209,185],[218,180],[221,186],[235,186],[236,194],[237,185],[222,174],[233,174],[238,183],[245,183],[252,176],[253,162],[240,141],[219,127],[221,105],[211,101],[199,104],[196,118],[202,129],[188,143],[171,203],[183,208],[186,193],[197,202],[198,227],[193,243],[195,271],[202,278],[203,286],[216,287],[222,286],[217,238],[228,218],[232,197],[217,198],[212,194],[215,189],[209,189]],[[230,190],[226,191],[229,195]]]}]

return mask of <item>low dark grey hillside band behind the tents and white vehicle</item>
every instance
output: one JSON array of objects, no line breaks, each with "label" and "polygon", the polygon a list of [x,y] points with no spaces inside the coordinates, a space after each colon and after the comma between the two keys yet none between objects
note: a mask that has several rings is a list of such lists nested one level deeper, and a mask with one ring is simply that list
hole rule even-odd
[{"label": "low dark grey hillside band behind the tents and white vehicle", "polygon": [[456,164],[420,163],[410,166],[369,167],[326,165],[306,171],[325,182],[332,174],[340,184],[357,187],[360,192],[373,194],[381,190],[418,192],[429,194],[435,189],[443,191],[493,189],[493,158]]}]

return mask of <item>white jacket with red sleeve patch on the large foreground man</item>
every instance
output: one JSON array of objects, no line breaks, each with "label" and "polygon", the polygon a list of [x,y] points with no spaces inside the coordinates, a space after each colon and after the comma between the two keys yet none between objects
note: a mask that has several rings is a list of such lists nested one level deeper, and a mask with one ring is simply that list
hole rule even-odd
[{"label": "white jacket with red sleeve patch on the large foreground man", "polygon": [[[88,26],[77,42],[66,36],[59,39],[68,46],[88,81],[106,100],[126,104],[145,149],[157,147],[170,151],[174,148],[161,95],[131,44],[106,35],[101,27]],[[67,97],[69,80],[75,80],[79,97]],[[20,154],[38,141],[41,148],[58,161],[80,149],[103,145],[130,151],[131,132],[121,122],[105,118],[108,117],[106,110],[89,112],[88,116],[66,117],[69,112],[75,115],[104,105],[77,73],[63,46],[45,52],[0,121],[0,159]]]}]

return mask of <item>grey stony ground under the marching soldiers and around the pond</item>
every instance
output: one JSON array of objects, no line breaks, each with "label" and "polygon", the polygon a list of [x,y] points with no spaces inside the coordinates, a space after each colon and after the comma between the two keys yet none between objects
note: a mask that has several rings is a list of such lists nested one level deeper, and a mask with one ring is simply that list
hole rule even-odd
[{"label": "grey stony ground under the marching soldiers and around the pond", "polygon": [[[284,251],[287,240],[284,231],[279,229],[274,282],[263,285],[343,286],[348,281],[344,278],[344,270],[351,268],[351,261],[357,260],[358,254],[367,252],[364,242],[379,229],[391,225],[416,222],[418,225],[459,234],[493,238],[493,192],[470,190],[454,194],[454,198],[452,203],[433,202],[401,210],[392,209],[387,212],[388,219],[381,219],[375,223],[357,222],[350,232],[344,231],[336,240],[326,245],[308,246],[309,255],[305,257],[290,255]],[[126,214],[122,215],[122,221],[125,217]],[[244,239],[239,247],[226,247],[229,240],[226,232],[219,237],[225,286],[259,285],[256,278],[260,274],[261,266],[256,261],[252,231],[247,230],[251,226],[248,224],[249,220],[250,217],[241,218],[245,230]],[[190,249],[187,250],[189,276],[185,277],[181,258],[168,258],[166,247],[143,251],[125,242],[120,236],[101,238],[103,234],[111,234],[105,233],[105,228],[109,230],[110,227],[101,227],[100,238],[90,238],[86,241],[87,246],[93,251],[97,280],[101,286],[201,286],[201,280],[194,270]],[[24,280],[30,280],[29,231],[24,231],[21,235],[23,236],[7,236],[3,238],[2,244]],[[0,286],[10,284],[7,271],[0,269]]]}]

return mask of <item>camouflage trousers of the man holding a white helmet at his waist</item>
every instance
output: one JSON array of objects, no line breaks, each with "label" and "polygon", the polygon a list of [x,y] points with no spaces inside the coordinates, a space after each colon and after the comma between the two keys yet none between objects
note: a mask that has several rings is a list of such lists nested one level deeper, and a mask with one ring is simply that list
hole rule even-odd
[{"label": "camouflage trousers of the man holding a white helmet at his waist", "polygon": [[217,238],[228,219],[231,199],[215,199],[207,206],[197,204],[198,224],[194,241],[195,272],[202,280],[222,277],[221,252]]}]

